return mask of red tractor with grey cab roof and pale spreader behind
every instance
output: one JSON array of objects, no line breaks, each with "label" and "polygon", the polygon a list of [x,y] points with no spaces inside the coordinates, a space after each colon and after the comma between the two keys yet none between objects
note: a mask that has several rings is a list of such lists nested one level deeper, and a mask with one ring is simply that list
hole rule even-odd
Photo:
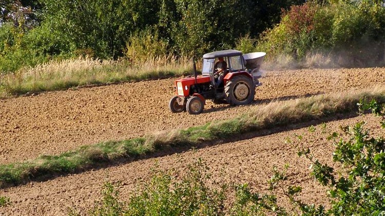
[{"label": "red tractor with grey cab roof and pale spreader behind", "polygon": [[[171,112],[200,114],[205,101],[226,101],[230,105],[245,105],[254,100],[255,88],[262,85],[258,78],[264,52],[242,55],[238,50],[221,50],[203,55],[202,75],[197,75],[194,64],[194,77],[179,78],[175,81],[177,96],[169,102]],[[223,58],[226,62],[226,75],[217,86],[219,68],[215,63]]]}]

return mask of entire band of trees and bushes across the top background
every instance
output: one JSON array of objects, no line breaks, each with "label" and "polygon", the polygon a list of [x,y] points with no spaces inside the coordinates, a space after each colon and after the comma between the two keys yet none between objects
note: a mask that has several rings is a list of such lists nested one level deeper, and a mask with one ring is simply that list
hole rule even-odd
[{"label": "entire band of trees and bushes across the top background", "polygon": [[[287,64],[385,65],[383,0],[3,0],[0,74],[89,56],[144,62],[237,48]],[[323,56],[313,58],[314,55]],[[325,57],[326,56],[326,57]]]}]

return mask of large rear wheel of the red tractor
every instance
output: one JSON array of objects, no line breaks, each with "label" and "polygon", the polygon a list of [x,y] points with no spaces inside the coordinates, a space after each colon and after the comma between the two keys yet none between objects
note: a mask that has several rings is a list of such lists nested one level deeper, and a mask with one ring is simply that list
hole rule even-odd
[{"label": "large rear wheel of the red tractor", "polygon": [[247,76],[235,76],[227,81],[225,89],[227,103],[232,106],[252,103],[255,95],[253,80]]}]

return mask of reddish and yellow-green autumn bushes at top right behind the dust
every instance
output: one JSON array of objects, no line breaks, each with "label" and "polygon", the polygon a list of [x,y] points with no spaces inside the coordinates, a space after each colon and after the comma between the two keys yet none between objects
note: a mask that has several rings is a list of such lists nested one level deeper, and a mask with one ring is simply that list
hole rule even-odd
[{"label": "reddish and yellow-green autumn bushes at top right behind the dust", "polygon": [[[292,6],[281,22],[263,33],[258,49],[292,62],[321,54],[315,66],[385,65],[385,2],[382,0],[309,1]],[[287,60],[287,59],[286,59]]]}]

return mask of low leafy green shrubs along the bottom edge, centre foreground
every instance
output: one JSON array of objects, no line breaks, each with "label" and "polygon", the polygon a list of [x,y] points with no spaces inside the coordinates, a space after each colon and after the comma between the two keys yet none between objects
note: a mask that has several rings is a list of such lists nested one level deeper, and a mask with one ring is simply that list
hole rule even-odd
[{"label": "low leafy green shrubs along the bottom edge, centre foreground", "polygon": [[[102,200],[95,202],[90,215],[291,215],[301,211],[302,215],[325,215],[322,206],[306,205],[296,199],[301,192],[299,186],[284,186],[286,170],[274,168],[272,179],[268,181],[269,193],[251,191],[248,184],[228,187],[216,184],[209,187],[210,173],[207,165],[198,159],[188,165],[182,174],[151,170],[151,179],[142,182],[127,203],[120,201],[118,186],[105,183]],[[176,177],[181,176],[181,177]],[[235,192],[235,200],[230,201],[226,192]],[[278,204],[275,194],[283,194],[292,205],[286,209]],[[225,205],[227,203],[227,206]],[[73,214],[74,210],[70,213]]]}]

